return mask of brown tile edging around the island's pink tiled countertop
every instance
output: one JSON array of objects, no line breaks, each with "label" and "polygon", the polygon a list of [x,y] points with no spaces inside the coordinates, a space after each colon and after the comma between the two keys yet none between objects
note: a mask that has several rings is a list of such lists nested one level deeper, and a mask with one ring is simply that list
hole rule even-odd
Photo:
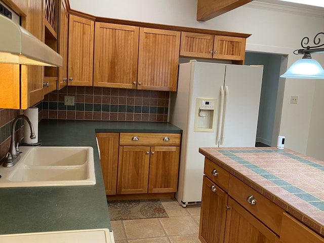
[{"label": "brown tile edging around the island's pink tiled countertop", "polygon": [[[266,147],[266,149],[269,149],[271,147]],[[245,175],[239,173],[235,169],[233,169],[230,165],[227,165],[226,162],[221,161],[220,159],[216,158],[212,155],[213,152],[217,151],[217,149],[221,148],[199,148],[199,153],[203,154],[206,158],[213,161],[216,165],[220,166],[224,170],[228,171],[231,175],[235,176],[240,181],[244,182],[248,186],[252,187],[254,190],[258,191],[260,194],[271,200],[274,204],[278,205],[280,208],[284,209],[286,212],[288,212],[290,215],[297,218],[299,221],[303,222],[308,227],[312,228],[314,231],[316,231],[318,234],[322,235],[324,237],[324,225],[317,222],[315,219],[313,219],[311,216],[303,213],[298,208],[292,206],[287,201],[279,198],[274,193],[269,192],[265,188],[263,188],[261,185],[255,183],[253,180],[247,178]],[[226,148],[224,148],[226,149]],[[240,148],[234,148],[239,150]],[[264,149],[264,148],[251,148],[251,149]],[[273,148],[272,149],[276,149]],[[293,150],[285,149],[285,151],[290,152],[292,154],[299,154]],[[300,155],[300,154],[299,154]],[[316,160],[316,159],[314,159]]]}]

